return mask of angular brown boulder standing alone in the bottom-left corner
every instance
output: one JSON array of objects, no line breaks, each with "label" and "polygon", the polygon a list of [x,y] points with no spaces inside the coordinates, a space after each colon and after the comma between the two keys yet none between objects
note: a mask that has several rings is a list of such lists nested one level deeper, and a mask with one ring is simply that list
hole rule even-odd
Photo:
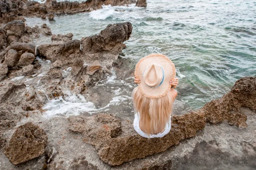
[{"label": "angular brown boulder standing alone in the bottom-left corner", "polygon": [[20,164],[44,153],[47,135],[38,125],[28,122],[15,130],[4,154],[12,164]]}]

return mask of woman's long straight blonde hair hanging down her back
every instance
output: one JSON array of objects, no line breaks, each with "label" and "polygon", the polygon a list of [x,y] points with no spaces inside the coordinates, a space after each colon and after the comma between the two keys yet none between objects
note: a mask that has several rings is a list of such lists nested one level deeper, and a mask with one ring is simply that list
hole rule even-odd
[{"label": "woman's long straight blonde hair hanging down her back", "polygon": [[136,87],[132,91],[132,98],[134,113],[140,113],[140,129],[147,135],[164,130],[172,116],[172,103],[175,100],[171,90],[169,89],[165,96],[150,99],[142,94],[139,87]]}]

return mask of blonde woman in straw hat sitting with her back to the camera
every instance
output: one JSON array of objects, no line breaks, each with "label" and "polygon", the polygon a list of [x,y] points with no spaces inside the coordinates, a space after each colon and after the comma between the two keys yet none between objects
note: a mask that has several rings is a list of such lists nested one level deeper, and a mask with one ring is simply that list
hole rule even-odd
[{"label": "blonde woman in straw hat sitting with her back to the camera", "polygon": [[150,54],[140,59],[135,68],[132,92],[134,129],[146,138],[163,137],[171,129],[172,103],[178,79],[172,61],[162,54]]}]

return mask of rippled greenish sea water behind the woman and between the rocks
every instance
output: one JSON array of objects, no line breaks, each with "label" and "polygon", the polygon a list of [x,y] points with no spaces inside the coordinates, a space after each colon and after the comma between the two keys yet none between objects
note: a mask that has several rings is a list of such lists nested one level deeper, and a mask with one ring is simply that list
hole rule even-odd
[{"label": "rippled greenish sea water behind the woman and between the rocks", "polygon": [[[147,8],[138,8],[135,4],[103,6],[90,13],[56,16],[51,22],[40,18],[26,20],[28,26],[47,23],[52,34],[72,32],[73,39],[79,40],[99,34],[110,23],[130,21],[133,32],[123,50],[125,58],[134,61],[130,68],[151,53],[165,54],[175,63],[180,78],[175,114],[198,109],[206,102],[220,98],[241,77],[256,76],[256,2],[147,0],[147,3]],[[36,40],[36,44],[46,42],[50,42],[50,37]],[[90,108],[97,110],[108,106],[105,112],[130,115],[130,99],[118,99],[115,104],[110,104],[114,97],[131,96],[132,79],[126,77],[123,84],[119,81],[111,84],[109,78],[99,82],[98,90],[108,91],[111,97],[99,94],[97,98],[104,102],[90,101],[95,104],[95,108],[92,105]],[[121,91],[115,94],[119,88]]]}]

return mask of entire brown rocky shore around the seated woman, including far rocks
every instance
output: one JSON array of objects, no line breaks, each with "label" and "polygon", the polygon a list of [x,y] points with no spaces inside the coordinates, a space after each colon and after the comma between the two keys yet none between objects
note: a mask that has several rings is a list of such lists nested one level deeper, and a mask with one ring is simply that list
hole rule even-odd
[{"label": "entire brown rocky shore around the seated woman, including far rocks", "polygon": [[[51,99],[67,97],[66,91],[88,96],[111,69],[120,81],[132,77],[120,54],[133,27],[109,24],[97,35],[73,40],[72,33],[52,34],[46,24],[26,26],[23,16],[52,20],[131,2],[0,1],[0,169],[256,168],[256,77],[242,77],[221,99],[174,116],[170,133],[158,139],[141,137],[131,120],[114,114],[44,116]],[[32,40],[40,36],[51,36],[52,43],[36,46]]]}]

